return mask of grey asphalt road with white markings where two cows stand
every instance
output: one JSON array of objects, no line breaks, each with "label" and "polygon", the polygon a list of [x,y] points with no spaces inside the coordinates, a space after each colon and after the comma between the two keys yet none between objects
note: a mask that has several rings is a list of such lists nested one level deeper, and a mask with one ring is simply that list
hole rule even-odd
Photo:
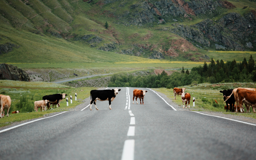
[{"label": "grey asphalt road with white markings where two cows stand", "polygon": [[119,89],[111,110],[108,101],[97,101],[99,110],[91,111],[87,98],[75,111],[0,131],[0,159],[255,159],[256,126],[175,111],[149,89],[144,105],[132,104],[135,88],[130,98],[128,88]]}]

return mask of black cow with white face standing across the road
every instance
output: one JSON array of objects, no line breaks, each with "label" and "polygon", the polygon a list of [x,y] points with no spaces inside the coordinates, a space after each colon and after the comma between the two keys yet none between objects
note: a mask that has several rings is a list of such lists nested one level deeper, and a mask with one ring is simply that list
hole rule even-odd
[{"label": "black cow with white face standing across the road", "polygon": [[90,109],[92,110],[92,103],[93,103],[95,108],[99,110],[96,107],[96,100],[100,100],[100,101],[108,100],[109,109],[112,109],[110,105],[111,105],[111,102],[116,98],[116,94],[118,94],[118,91],[121,91],[121,89],[115,88],[112,90],[92,90]]}]

